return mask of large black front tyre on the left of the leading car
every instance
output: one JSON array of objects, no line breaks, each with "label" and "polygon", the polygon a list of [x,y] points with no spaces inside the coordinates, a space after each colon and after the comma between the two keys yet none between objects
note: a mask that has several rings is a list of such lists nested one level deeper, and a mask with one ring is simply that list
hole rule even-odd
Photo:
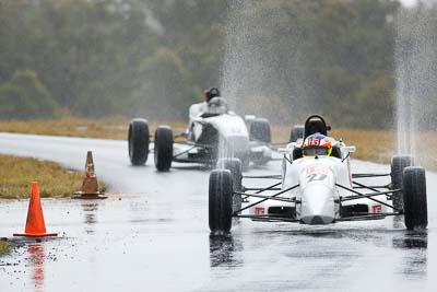
[{"label": "large black front tyre on the left of the leading car", "polygon": [[209,223],[213,233],[226,233],[232,227],[233,179],[231,171],[214,170],[210,174]]}]

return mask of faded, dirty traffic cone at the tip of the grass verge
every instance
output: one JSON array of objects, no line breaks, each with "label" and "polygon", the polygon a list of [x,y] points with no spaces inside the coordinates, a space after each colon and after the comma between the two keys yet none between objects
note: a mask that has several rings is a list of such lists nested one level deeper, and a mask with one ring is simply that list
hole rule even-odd
[{"label": "faded, dirty traffic cone at the tip of the grass verge", "polygon": [[94,170],[93,152],[86,153],[85,175],[81,190],[74,192],[73,198],[79,199],[106,199],[107,197],[98,190],[97,175]]}]

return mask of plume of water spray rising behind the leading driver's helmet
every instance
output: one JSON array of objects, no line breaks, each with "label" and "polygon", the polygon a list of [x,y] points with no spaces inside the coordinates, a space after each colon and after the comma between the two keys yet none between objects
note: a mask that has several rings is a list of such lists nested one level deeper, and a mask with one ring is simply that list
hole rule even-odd
[{"label": "plume of water spray rising behind the leading driver's helmet", "polygon": [[288,17],[262,1],[229,1],[221,90],[237,114],[290,125],[314,110],[306,98],[311,85],[299,71],[302,36]]}]

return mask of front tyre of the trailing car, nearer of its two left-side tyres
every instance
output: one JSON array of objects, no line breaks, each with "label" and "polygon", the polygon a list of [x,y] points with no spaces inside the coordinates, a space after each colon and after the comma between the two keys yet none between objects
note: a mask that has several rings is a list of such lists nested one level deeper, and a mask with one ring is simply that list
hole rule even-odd
[{"label": "front tyre of the trailing car, nearer of its two left-side tyres", "polygon": [[160,126],[155,131],[155,166],[158,172],[166,172],[173,161],[173,131],[168,126]]}]

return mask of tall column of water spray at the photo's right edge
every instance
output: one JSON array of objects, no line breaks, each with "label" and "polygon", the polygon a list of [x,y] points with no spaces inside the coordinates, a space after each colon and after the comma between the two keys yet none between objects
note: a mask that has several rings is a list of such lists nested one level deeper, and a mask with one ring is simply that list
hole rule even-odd
[{"label": "tall column of water spray at the photo's right edge", "polygon": [[437,113],[435,10],[427,5],[400,9],[395,19],[397,151],[423,163],[429,163],[430,155],[429,149],[422,149],[430,142],[423,135],[435,129]]}]

